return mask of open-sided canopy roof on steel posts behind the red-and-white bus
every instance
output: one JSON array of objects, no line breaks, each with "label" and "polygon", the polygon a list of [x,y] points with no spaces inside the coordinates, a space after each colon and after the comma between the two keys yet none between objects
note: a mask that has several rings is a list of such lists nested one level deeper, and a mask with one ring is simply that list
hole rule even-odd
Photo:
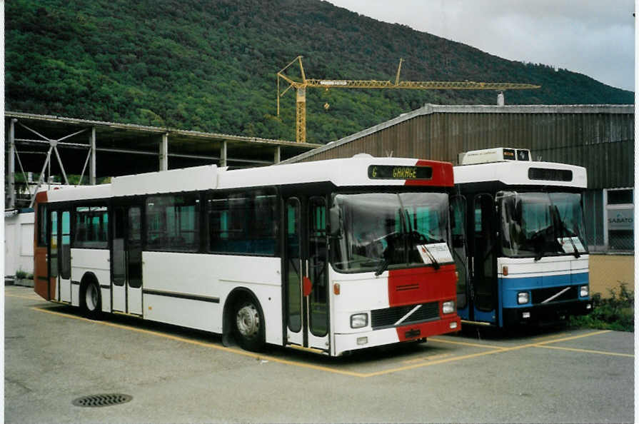
[{"label": "open-sided canopy roof on steel posts behind the red-and-white bus", "polygon": [[[168,134],[168,168],[183,168],[221,161],[226,143],[226,164],[242,168],[269,165],[321,146],[313,143],[276,140],[223,133],[206,133],[176,128],[94,121],[64,116],[5,111],[6,128],[16,120],[16,148],[24,153],[24,171],[39,173],[50,141],[64,148],[67,173],[81,173],[89,148],[89,134],[96,134],[97,176],[119,176],[158,169],[159,143]],[[276,153],[277,152],[277,153]],[[123,154],[124,153],[124,154]],[[279,156],[277,156],[279,155]],[[16,168],[16,172],[19,168]]]}]

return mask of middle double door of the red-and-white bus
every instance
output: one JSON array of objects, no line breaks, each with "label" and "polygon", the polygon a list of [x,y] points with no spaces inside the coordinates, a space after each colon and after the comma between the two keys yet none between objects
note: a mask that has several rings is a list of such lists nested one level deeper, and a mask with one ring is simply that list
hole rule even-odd
[{"label": "middle double door of the red-and-white bus", "polygon": [[113,208],[111,295],[116,312],[142,315],[142,224],[140,206]]}]

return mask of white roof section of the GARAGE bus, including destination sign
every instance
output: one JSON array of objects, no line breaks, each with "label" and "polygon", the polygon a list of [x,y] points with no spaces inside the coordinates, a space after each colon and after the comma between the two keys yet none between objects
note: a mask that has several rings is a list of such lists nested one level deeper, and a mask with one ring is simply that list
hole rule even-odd
[{"label": "white roof section of the GARAGE bus, including destination sign", "polygon": [[453,165],[414,158],[374,158],[364,155],[263,166],[228,171],[216,165],[195,166],[119,176],[100,186],[56,186],[48,201],[139,196],[226,188],[278,186],[296,183],[335,186],[453,186]]}]

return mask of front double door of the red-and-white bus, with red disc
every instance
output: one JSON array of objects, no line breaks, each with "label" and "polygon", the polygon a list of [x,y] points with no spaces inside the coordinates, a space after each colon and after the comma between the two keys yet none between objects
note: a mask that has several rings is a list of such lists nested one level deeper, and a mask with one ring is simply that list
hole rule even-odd
[{"label": "front double door of the red-and-white bus, with red disc", "polygon": [[291,196],[284,204],[287,344],[328,351],[326,197]]}]

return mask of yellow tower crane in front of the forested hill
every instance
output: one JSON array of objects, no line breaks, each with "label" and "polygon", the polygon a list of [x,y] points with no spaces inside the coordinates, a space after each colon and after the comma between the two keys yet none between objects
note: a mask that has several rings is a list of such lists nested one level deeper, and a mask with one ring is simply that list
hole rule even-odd
[{"label": "yellow tower crane in front of the forested hill", "polygon": [[[290,64],[277,73],[277,115],[280,115],[280,97],[291,88],[296,89],[296,119],[295,140],[298,143],[306,143],[306,88],[318,87],[321,89],[413,89],[413,90],[523,90],[538,89],[540,86],[518,83],[486,83],[473,81],[399,81],[401,64],[399,59],[395,83],[391,81],[378,81],[374,79],[307,79],[302,65],[302,56],[297,56]],[[284,75],[284,71],[291,65],[299,63],[301,81],[295,81]],[[280,79],[288,83],[288,87],[280,91]],[[326,108],[326,105],[325,105]]]}]

